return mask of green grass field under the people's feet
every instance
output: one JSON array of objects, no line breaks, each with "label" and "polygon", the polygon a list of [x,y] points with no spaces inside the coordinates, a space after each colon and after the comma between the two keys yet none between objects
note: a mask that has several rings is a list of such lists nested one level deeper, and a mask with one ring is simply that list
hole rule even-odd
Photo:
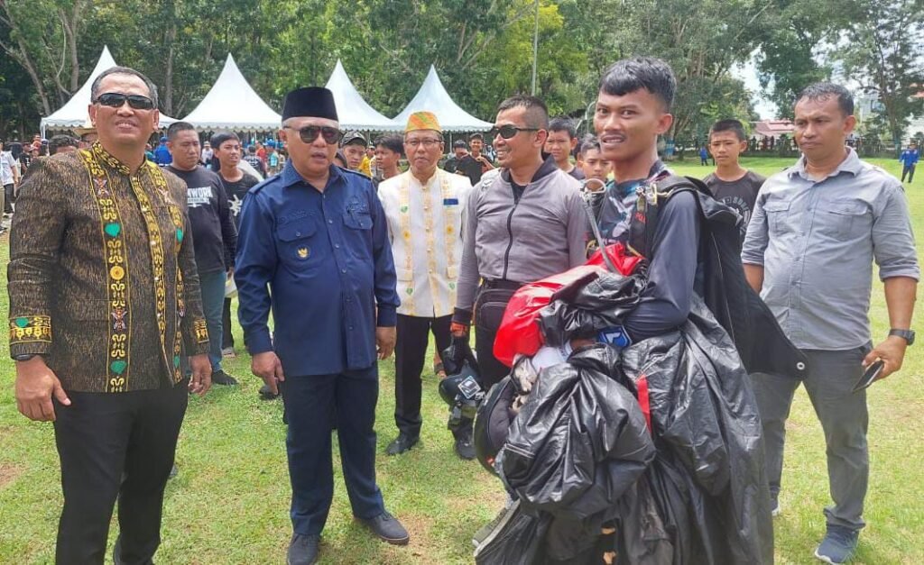
[{"label": "green grass field under the people's feet", "polygon": [[[790,163],[753,159],[744,164],[772,174]],[[893,174],[900,171],[897,162],[877,163]],[[699,176],[711,171],[695,162],[675,169]],[[924,178],[908,186],[907,194],[920,246]],[[0,239],[0,257],[6,271],[6,235]],[[6,312],[6,292],[0,296]],[[873,335],[884,336],[888,319],[881,285],[873,291],[870,316]],[[918,330],[924,328],[919,312],[915,319]],[[3,339],[0,350],[6,351]],[[236,339],[239,349],[239,328]],[[924,400],[918,392],[924,385],[922,347],[908,349],[902,371],[869,392],[869,525],[860,536],[857,563],[924,559]],[[445,429],[446,407],[432,374],[424,376],[422,447],[386,457],[382,451],[395,436],[393,360],[383,362],[381,369],[379,483],[387,508],[405,523],[411,543],[387,546],[353,521],[334,447],[334,505],[322,538],[321,562],[471,562],[471,534],[501,506],[503,489],[478,463],[462,462],[454,454]],[[158,563],[285,561],[291,526],[282,406],[258,399],[261,381],[250,376],[246,355],[228,362],[225,370],[240,379],[239,387],[214,387],[205,398],[190,400],[176,454],[180,473],[164,500]],[[50,424],[32,423],[18,414],[13,380],[13,362],[0,355],[0,563],[51,563],[61,507],[54,432]],[[776,558],[780,563],[810,563],[824,535],[821,509],[829,499],[821,427],[801,390],[788,430],[783,514],[774,523]],[[114,518],[110,544],[116,527]]]}]

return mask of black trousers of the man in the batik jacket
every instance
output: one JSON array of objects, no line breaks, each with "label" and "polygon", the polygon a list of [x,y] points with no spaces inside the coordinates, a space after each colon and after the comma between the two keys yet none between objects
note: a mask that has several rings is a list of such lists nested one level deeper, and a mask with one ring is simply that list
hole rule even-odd
[{"label": "black trousers of the man in the batik jacket", "polygon": [[161,543],[164,487],[186,415],[187,381],[172,389],[68,396],[70,406],[55,403],[64,491],[55,563],[103,563],[116,499],[121,562],[152,563]]}]

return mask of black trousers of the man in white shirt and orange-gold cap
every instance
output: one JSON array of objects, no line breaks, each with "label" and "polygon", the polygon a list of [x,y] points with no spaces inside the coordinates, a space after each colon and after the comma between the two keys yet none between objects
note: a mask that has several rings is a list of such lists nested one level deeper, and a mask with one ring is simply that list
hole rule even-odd
[{"label": "black trousers of the man in white shirt and orange-gold cap", "polygon": [[395,425],[398,431],[417,438],[420,435],[420,373],[427,362],[430,332],[441,354],[449,347],[449,326],[453,317],[422,318],[398,314],[395,343]]}]

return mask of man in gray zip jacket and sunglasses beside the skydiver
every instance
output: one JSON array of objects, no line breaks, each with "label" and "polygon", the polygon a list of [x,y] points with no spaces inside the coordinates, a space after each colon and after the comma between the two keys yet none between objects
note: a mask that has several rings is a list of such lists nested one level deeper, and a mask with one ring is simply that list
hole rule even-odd
[{"label": "man in gray zip jacket and sunglasses beside the skydiver", "polygon": [[[518,95],[501,102],[492,136],[499,174],[486,174],[468,198],[452,331],[468,333],[474,314],[481,384],[503,379],[494,337],[519,286],[563,272],[587,257],[588,217],[579,183],[552,157],[545,103]],[[477,298],[476,298],[477,297]]]}]

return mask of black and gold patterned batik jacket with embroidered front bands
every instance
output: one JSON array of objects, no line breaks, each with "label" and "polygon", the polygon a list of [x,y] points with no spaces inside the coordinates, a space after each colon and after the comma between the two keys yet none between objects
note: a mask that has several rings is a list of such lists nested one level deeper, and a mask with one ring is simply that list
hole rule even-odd
[{"label": "black and gold patterned batik jacket with embroidered front bands", "polygon": [[9,348],[67,391],[169,387],[208,352],[186,185],[96,143],[36,161],[10,231]]}]

